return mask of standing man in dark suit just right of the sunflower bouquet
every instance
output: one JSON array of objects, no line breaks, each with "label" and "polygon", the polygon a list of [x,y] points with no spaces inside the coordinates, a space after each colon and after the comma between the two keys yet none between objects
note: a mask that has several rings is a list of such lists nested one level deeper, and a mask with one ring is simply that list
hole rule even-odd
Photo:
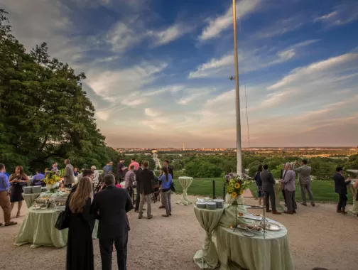
[{"label": "standing man in dark suit just right of the sunflower bouquet", "polygon": [[276,210],[276,200],[275,200],[275,190],[273,186],[275,185],[275,179],[273,178],[272,173],[267,171],[268,165],[264,165],[264,171],[261,171],[260,178],[262,181],[262,191],[265,193],[265,205],[266,205],[266,212],[270,211],[270,203],[269,200],[271,199],[271,209],[272,213],[275,215],[281,215],[281,212],[277,212]]}]

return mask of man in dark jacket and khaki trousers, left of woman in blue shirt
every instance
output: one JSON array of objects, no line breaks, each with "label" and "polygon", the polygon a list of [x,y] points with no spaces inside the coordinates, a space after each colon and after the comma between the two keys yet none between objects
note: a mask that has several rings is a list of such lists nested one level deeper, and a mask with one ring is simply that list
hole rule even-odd
[{"label": "man in dark jacket and khaki trousers, left of woman in blue shirt", "polygon": [[147,218],[151,220],[153,215],[151,215],[151,198],[154,193],[153,181],[156,179],[153,171],[148,169],[149,162],[143,162],[143,170],[139,173],[139,181],[137,180],[137,185],[139,184],[139,194],[141,200],[139,202],[139,219],[143,217],[143,205],[144,202],[147,202]]}]

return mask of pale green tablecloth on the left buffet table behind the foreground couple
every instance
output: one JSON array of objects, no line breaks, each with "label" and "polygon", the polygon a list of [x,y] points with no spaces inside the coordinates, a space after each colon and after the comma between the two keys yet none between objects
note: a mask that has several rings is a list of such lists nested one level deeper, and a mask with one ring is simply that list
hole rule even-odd
[{"label": "pale green tablecloth on the left buffet table behind the foreground couple", "polygon": [[[60,215],[55,210],[35,210],[31,207],[23,220],[18,234],[15,238],[15,245],[31,243],[31,248],[40,246],[65,247],[67,244],[68,229],[59,231],[55,223]],[[94,225],[92,237],[97,238],[98,220]]]}]

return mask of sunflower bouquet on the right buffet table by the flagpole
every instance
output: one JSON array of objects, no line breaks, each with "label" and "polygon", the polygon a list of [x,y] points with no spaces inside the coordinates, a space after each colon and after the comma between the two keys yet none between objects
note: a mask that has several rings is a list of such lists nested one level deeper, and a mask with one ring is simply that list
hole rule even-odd
[{"label": "sunflower bouquet on the right buffet table by the flagpole", "polygon": [[244,193],[246,188],[249,188],[249,179],[243,173],[242,175],[234,175],[229,173],[224,177],[225,188],[227,192],[227,198],[232,202],[238,202],[239,198]]}]

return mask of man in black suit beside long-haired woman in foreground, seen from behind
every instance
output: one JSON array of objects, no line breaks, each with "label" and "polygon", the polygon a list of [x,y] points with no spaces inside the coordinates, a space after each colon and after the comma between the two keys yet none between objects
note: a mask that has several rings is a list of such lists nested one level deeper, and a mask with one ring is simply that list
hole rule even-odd
[{"label": "man in black suit beside long-haired woman in foreground, seen from behind", "polygon": [[98,239],[102,270],[112,269],[113,244],[119,270],[126,270],[129,222],[126,213],[133,203],[126,189],[116,188],[114,175],[104,176],[106,189],[94,194],[91,212],[99,212]]}]

